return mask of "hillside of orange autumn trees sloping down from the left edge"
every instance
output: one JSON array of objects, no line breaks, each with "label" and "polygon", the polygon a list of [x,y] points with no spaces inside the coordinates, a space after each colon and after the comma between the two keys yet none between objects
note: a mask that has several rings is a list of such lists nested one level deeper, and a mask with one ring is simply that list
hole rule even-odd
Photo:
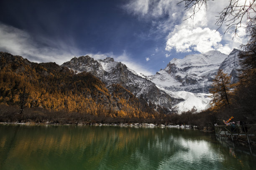
[{"label": "hillside of orange autumn trees sloping down from the left edge", "polygon": [[53,62],[38,64],[0,52],[0,103],[18,107],[16,114],[22,115],[24,108],[42,108],[97,121],[154,120],[159,115],[121,85],[109,89],[88,72],[76,74]]}]

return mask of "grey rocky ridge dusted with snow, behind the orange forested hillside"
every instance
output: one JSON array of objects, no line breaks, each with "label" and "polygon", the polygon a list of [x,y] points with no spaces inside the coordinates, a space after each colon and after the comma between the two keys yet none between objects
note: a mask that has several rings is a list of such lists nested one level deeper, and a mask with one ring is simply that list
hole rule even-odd
[{"label": "grey rocky ridge dusted with snow, behind the orange forested hillside", "polygon": [[94,60],[89,56],[74,57],[63,66],[76,70],[77,72],[90,72],[98,77],[106,86],[120,84],[131,91],[136,97],[145,99],[148,103],[171,109],[182,98],[174,98],[163,90],[159,90],[150,80],[139,76],[133,70],[121,62],[115,62],[113,58],[105,60]]}]

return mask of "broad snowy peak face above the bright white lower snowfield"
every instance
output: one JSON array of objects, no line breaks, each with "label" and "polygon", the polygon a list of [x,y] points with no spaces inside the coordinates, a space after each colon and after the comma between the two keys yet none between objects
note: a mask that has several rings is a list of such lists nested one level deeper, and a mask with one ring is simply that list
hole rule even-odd
[{"label": "broad snowy peak face above the bright white lower snowfield", "polygon": [[169,64],[148,76],[157,86],[170,91],[208,93],[212,78],[228,55],[217,50],[172,59]]}]

